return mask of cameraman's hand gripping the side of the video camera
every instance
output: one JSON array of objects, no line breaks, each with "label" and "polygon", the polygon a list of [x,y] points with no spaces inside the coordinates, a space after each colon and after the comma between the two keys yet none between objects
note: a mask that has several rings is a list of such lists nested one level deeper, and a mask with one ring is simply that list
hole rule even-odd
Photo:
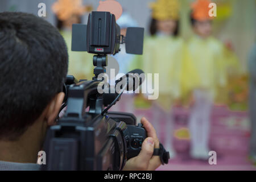
[{"label": "cameraman's hand gripping the side of the video camera", "polygon": [[160,157],[153,156],[154,148],[159,148],[159,140],[154,127],[146,118],[141,119],[143,127],[147,131],[147,136],[142,143],[139,155],[127,160],[123,170],[126,171],[153,171],[161,165]]}]

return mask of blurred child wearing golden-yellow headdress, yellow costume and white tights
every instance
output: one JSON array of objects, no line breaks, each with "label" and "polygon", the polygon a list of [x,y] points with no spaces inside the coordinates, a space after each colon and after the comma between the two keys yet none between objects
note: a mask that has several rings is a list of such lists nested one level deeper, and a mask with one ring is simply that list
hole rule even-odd
[{"label": "blurred child wearing golden-yellow headdress, yellow costume and white tights", "polygon": [[[145,39],[143,55],[138,56],[134,63],[139,64],[137,68],[142,68],[145,73],[152,73],[153,76],[155,73],[159,74],[159,98],[154,102],[152,115],[158,135],[165,134],[165,146],[170,151],[171,157],[175,155],[172,147],[171,105],[181,94],[181,64],[184,55],[183,39],[178,36],[179,8],[177,0],[158,0],[151,3],[151,36]],[[161,131],[160,125],[163,119],[166,125],[164,131]]]}]

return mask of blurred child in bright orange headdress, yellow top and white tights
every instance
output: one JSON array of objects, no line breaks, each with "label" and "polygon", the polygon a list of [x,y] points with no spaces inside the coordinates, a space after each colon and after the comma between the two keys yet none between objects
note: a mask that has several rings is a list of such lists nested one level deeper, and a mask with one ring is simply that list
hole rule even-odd
[{"label": "blurred child in bright orange headdress, yellow top and white tights", "polygon": [[212,37],[212,19],[209,0],[192,3],[191,24],[195,35],[188,42],[188,57],[193,65],[193,75],[187,76],[192,85],[194,104],[189,118],[191,156],[209,158],[210,114],[218,86],[226,84],[224,46]]}]

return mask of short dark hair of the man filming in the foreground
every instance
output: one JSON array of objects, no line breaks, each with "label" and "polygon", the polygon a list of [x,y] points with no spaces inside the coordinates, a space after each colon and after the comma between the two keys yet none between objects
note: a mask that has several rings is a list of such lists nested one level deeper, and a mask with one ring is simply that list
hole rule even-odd
[{"label": "short dark hair of the man filming in the foreground", "polygon": [[0,13],[0,139],[17,139],[38,119],[67,71],[57,28],[32,14]]}]

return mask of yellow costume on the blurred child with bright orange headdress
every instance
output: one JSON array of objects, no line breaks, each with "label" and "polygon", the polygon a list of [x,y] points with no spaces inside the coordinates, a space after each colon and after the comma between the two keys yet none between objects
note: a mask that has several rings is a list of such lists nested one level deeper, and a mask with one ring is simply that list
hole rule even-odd
[{"label": "yellow costume on the blurred child with bright orange headdress", "polygon": [[[207,39],[193,36],[187,44],[187,64],[191,75],[183,72],[183,87],[190,89],[208,89],[216,96],[218,86],[225,86],[227,82],[224,46],[217,39]],[[186,67],[186,65],[185,65]]]}]

